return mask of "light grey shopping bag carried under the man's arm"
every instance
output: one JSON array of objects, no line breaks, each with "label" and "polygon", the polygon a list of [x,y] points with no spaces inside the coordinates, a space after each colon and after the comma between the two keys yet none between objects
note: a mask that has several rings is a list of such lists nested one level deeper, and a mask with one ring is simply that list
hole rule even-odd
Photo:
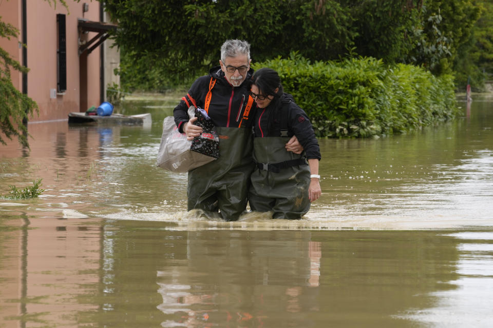
[{"label": "light grey shopping bag carried under the man's arm", "polygon": [[[195,116],[195,111],[193,106],[188,108],[190,118]],[[163,134],[161,136],[156,166],[172,172],[183,173],[198,168],[217,158],[205,155],[197,150],[191,150],[192,144],[193,141],[187,140],[185,133],[178,131],[174,117],[166,117],[163,121]],[[199,149],[203,148],[199,147]]]}]

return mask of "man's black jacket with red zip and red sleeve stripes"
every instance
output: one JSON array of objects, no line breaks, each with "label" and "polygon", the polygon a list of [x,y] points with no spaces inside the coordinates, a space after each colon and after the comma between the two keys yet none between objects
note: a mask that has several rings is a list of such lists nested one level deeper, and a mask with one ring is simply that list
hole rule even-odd
[{"label": "man's black jacket with red zip and red sleeve stripes", "polygon": [[208,115],[214,124],[217,127],[238,128],[241,122],[241,127],[251,127],[255,104],[247,116],[245,116],[245,108],[247,107],[252,74],[253,69],[250,69],[239,87],[233,87],[227,81],[220,66],[211,69],[209,75],[197,78],[188,93],[181,98],[182,100],[173,110],[177,127],[182,132],[183,124],[188,121],[187,110],[189,106],[193,105],[192,100],[195,100],[197,107],[204,108],[211,77],[216,79],[216,83],[212,89]]}]

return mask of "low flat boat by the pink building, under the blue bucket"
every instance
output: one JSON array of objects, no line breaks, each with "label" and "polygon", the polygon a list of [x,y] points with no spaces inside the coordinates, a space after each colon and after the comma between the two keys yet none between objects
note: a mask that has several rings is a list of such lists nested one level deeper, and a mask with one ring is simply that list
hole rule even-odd
[{"label": "low flat boat by the pink building, under the blue bucket", "polygon": [[72,112],[68,114],[69,124],[91,125],[136,125],[147,126],[152,123],[150,113],[137,115],[111,114],[108,116],[86,115],[84,112]]}]

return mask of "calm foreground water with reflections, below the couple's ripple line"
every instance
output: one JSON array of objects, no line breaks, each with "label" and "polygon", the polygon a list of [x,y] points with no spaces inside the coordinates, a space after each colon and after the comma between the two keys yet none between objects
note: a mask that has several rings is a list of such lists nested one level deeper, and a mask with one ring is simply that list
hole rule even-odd
[{"label": "calm foreground water with reflections, below the couple's ripple line", "polygon": [[491,324],[491,231],[174,228],[3,215],[0,326]]}]

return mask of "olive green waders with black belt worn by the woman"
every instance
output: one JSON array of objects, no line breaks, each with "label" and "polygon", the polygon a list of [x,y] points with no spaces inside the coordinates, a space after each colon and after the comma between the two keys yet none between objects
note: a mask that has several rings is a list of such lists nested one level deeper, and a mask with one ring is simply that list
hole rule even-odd
[{"label": "olive green waders with black belt worn by the woman", "polygon": [[[253,211],[273,211],[273,218],[299,219],[310,209],[310,168],[304,154],[286,151],[287,140],[285,137],[254,138],[253,156],[257,167],[251,176],[248,197]],[[296,162],[305,165],[290,166]]]}]

